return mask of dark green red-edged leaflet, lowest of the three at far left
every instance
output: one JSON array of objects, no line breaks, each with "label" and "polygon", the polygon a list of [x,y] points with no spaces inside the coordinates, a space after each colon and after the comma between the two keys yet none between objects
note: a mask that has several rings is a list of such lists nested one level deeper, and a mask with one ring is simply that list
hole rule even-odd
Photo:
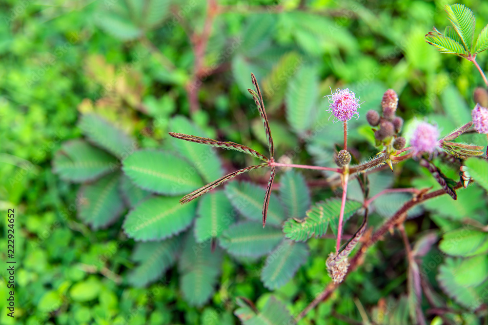
[{"label": "dark green red-edged leaflet, lowest of the three at far left", "polygon": [[120,176],[109,174],[80,187],[78,218],[93,229],[106,227],[120,217],[124,207],[119,194]]}]

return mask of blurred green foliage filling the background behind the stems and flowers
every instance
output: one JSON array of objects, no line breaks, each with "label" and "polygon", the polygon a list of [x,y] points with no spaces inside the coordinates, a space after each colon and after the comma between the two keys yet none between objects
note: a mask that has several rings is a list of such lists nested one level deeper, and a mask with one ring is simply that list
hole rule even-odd
[{"label": "blurred green foliage filling the background behind the stems and flowers", "polygon": [[[331,281],[325,259],[334,239],[287,235],[310,238],[294,243],[280,231],[286,218],[304,217],[311,203],[335,196],[317,186],[324,175],[279,172],[277,182],[285,187],[271,198],[266,236],[249,239],[261,228],[268,175],[252,171],[180,206],[184,194],[255,160],[175,140],[168,132],[265,153],[266,136],[246,91],[253,72],[264,92],[276,157],[330,166],[342,139],[322,98],[330,88],[349,87],[363,102],[349,135],[364,159],[376,153],[364,115],[378,109],[387,88],[399,94],[408,138],[414,118],[436,122],[442,134],[470,121],[472,91],[483,84],[470,62],[439,54],[424,40],[433,25],[447,25],[444,1],[219,0],[223,13],[213,21],[196,80],[202,83],[199,108],[192,111],[192,35],[203,30],[206,2],[142,2],[141,10],[130,0],[0,3],[0,205],[16,209],[18,263],[16,319],[6,316],[1,299],[0,324],[239,324],[235,315],[254,311],[238,296],[256,304],[259,320],[287,322]],[[488,3],[463,3],[481,31]],[[487,70],[486,52],[477,59]],[[480,135],[463,140],[487,145]],[[183,181],[171,178],[185,172]],[[446,174],[458,178],[447,167]],[[472,176],[487,175],[485,169]],[[309,193],[305,180],[315,184]],[[427,314],[432,324],[487,322],[488,238],[467,226],[488,221],[481,183],[485,189],[461,189],[457,201],[443,196],[423,204],[406,223],[432,299],[452,310],[444,318]],[[354,186],[349,199],[361,199]],[[371,196],[389,186],[439,188],[413,161],[375,175],[371,186]],[[410,198],[398,194],[375,201],[371,226]],[[245,204],[239,203],[243,195]],[[215,216],[207,213],[214,209]],[[155,223],[142,224],[140,215],[154,215]],[[360,222],[352,217],[346,233]],[[328,234],[336,231],[329,227]],[[439,245],[429,244],[432,236]],[[211,238],[219,238],[213,253]],[[290,258],[280,254],[284,250]],[[287,272],[275,276],[282,265]],[[410,324],[408,272],[401,238],[390,236],[300,324],[351,324],[365,317],[373,324]],[[1,297],[7,291],[0,282]],[[424,297],[424,312],[430,303]],[[477,308],[481,313],[473,312]]]}]

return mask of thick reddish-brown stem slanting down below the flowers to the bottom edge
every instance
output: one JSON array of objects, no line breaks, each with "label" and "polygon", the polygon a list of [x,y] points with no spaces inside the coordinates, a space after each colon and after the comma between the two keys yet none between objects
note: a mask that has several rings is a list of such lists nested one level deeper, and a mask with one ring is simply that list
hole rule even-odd
[{"label": "thick reddish-brown stem slanting down below the flowers to the bottom edge", "polygon": [[[461,188],[463,186],[462,182],[458,182],[456,186],[454,186],[454,189]],[[424,201],[427,201],[429,199],[441,196],[446,194],[443,189],[439,189],[436,191],[433,191],[431,193],[427,193],[421,197],[415,197],[411,199],[410,201],[407,201],[390,219],[386,221],[371,237],[369,237],[365,243],[361,245],[361,247],[358,249],[358,252],[350,261],[349,269],[347,270],[347,274],[350,272],[354,271],[359,265],[363,263],[363,257],[367,251],[367,249],[378,242],[380,239],[383,238],[383,236],[392,228],[395,227],[399,222],[402,222],[405,220],[407,211],[414,207],[415,205],[419,203],[423,203]],[[346,274],[346,276],[347,276]],[[342,282],[344,283],[344,281]],[[308,304],[304,310],[298,316],[295,318],[295,322],[298,322],[302,318],[305,317],[305,315],[315,308],[320,302],[325,301],[328,297],[330,297],[331,293],[334,292],[335,289],[339,287],[339,284],[336,284],[334,282],[330,282],[324,290],[310,303]]]}]

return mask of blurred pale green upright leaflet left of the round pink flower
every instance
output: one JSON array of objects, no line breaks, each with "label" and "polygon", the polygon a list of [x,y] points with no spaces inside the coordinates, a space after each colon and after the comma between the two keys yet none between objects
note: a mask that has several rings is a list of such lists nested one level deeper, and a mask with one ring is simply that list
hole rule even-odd
[{"label": "blurred pale green upright leaflet left of the round pink flower", "polygon": [[319,93],[318,79],[317,69],[305,65],[288,82],[285,95],[286,121],[299,135],[309,130],[314,121]]}]

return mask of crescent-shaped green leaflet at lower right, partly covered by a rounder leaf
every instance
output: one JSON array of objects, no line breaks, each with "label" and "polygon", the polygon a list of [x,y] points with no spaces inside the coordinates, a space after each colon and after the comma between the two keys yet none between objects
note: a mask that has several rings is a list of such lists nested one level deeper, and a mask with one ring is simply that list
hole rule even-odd
[{"label": "crescent-shaped green leaflet at lower right, partly covered by a rounder leaf", "polygon": [[482,299],[480,299],[476,288],[459,284],[460,281],[463,281],[461,278],[464,277],[464,274],[458,273],[462,264],[463,260],[461,259],[447,258],[439,266],[439,273],[436,279],[449,297],[453,298],[458,304],[474,310],[479,307]]}]

